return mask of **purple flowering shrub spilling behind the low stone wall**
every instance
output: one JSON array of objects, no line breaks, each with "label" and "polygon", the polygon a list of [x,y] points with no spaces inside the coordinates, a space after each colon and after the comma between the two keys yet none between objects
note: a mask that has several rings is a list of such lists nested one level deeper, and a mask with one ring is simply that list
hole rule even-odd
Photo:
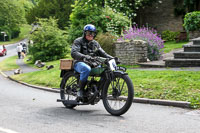
[{"label": "purple flowering shrub spilling behind the low stone wall", "polygon": [[154,29],[142,27],[138,28],[134,26],[129,30],[124,32],[124,35],[118,39],[118,41],[124,40],[143,40],[146,41],[148,46],[148,55],[149,60],[158,60],[161,58],[161,49],[164,48],[163,40],[157,34],[157,31]]}]

